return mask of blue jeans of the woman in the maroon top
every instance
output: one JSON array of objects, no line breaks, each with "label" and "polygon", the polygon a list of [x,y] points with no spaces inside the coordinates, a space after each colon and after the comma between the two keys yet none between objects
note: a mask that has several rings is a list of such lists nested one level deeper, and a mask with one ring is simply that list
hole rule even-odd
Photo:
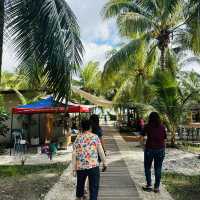
[{"label": "blue jeans of the woman in the maroon top", "polygon": [[165,157],[165,149],[145,149],[144,151],[144,169],[147,186],[151,186],[151,166],[154,161],[155,170],[155,188],[159,188],[162,172],[162,163]]}]

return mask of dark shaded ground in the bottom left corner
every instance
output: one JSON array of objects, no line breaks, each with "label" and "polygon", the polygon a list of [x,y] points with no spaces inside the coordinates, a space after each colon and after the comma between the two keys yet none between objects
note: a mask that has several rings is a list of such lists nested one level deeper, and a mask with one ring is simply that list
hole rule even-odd
[{"label": "dark shaded ground in the bottom left corner", "polygon": [[0,179],[0,200],[42,200],[59,180],[56,173],[29,174]]}]

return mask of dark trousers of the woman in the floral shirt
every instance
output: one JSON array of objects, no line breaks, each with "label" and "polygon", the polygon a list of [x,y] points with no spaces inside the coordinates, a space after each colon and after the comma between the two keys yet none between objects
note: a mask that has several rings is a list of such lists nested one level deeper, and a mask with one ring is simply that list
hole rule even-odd
[{"label": "dark trousers of the woman in the floral shirt", "polygon": [[100,181],[99,167],[77,171],[76,197],[83,197],[87,177],[89,179],[90,200],[97,200]]}]

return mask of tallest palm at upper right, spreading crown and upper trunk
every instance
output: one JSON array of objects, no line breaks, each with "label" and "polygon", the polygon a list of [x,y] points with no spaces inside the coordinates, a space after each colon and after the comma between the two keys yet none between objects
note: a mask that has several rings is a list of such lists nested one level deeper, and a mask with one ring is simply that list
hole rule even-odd
[{"label": "tallest palm at upper right, spreading crown and upper trunk", "polygon": [[[192,9],[187,9],[191,7],[189,3]],[[200,46],[195,45],[199,42],[200,29],[196,29],[194,25],[188,28],[191,22],[200,26],[200,20],[196,14],[199,10],[197,4],[194,0],[109,0],[103,8],[103,16],[105,19],[117,17],[119,32],[122,36],[139,38],[154,44],[153,46],[160,50],[160,66],[164,69],[166,49],[169,48],[173,39],[179,37],[179,34],[182,35],[183,32],[184,35],[189,33],[192,39],[187,47],[200,53]],[[183,29],[184,31],[181,32]]]}]

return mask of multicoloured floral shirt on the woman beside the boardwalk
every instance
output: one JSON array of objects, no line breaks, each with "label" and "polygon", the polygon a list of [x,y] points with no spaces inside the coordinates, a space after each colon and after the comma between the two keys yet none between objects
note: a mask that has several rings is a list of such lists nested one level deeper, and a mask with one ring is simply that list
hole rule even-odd
[{"label": "multicoloured floral shirt on the woman beside the boardwalk", "polygon": [[74,142],[76,170],[91,169],[99,166],[98,145],[100,144],[99,137],[89,131],[77,136]]}]

